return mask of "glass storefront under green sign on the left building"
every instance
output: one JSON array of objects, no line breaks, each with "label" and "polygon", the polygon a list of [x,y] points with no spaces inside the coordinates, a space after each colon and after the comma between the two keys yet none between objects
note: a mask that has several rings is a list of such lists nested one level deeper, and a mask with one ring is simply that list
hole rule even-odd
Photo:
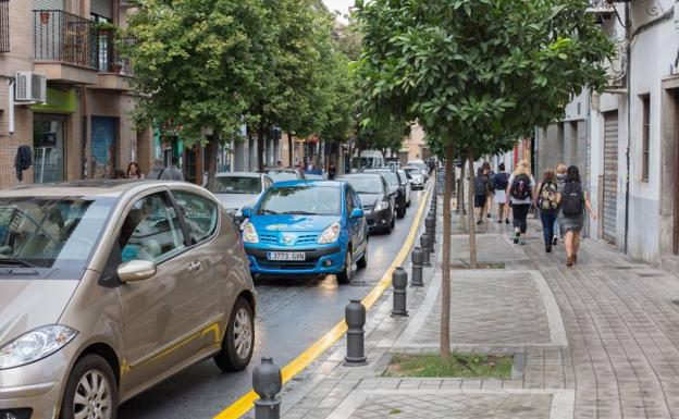
[{"label": "glass storefront under green sign on the left building", "polygon": [[35,183],[66,180],[67,122],[75,113],[76,102],[75,90],[50,86],[47,88],[47,103],[30,107]]}]

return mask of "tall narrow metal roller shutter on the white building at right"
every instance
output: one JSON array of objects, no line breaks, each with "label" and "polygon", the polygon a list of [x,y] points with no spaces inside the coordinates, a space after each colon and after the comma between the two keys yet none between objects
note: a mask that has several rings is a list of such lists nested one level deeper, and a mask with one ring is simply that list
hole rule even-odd
[{"label": "tall narrow metal roller shutter on the white building at right", "polygon": [[604,239],[617,238],[618,213],[618,112],[604,114]]}]

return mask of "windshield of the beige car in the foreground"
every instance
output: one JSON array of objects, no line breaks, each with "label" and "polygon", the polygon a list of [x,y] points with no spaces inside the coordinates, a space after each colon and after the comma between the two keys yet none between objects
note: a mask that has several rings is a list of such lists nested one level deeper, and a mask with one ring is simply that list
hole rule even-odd
[{"label": "windshield of the beige car in the foreground", "polygon": [[113,198],[0,198],[0,267],[84,268]]}]

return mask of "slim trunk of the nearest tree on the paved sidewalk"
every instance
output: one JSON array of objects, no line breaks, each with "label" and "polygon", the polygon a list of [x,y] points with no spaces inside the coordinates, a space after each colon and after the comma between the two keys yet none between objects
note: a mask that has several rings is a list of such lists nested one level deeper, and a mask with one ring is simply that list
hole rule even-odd
[{"label": "slim trunk of the nearest tree on the paved sidewalk", "polygon": [[443,251],[441,262],[441,358],[450,359],[450,198],[455,181],[453,143],[446,148],[446,180],[443,192]]}]

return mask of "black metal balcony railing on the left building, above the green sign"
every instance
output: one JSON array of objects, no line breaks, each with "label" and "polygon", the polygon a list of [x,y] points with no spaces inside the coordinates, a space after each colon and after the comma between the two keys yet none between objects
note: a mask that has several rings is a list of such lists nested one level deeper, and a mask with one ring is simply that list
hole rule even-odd
[{"label": "black metal balcony railing on the left building, above the green sign", "polygon": [[61,10],[36,10],[34,17],[36,60],[132,73],[129,61],[120,56],[114,30],[99,28],[92,21]]}]

